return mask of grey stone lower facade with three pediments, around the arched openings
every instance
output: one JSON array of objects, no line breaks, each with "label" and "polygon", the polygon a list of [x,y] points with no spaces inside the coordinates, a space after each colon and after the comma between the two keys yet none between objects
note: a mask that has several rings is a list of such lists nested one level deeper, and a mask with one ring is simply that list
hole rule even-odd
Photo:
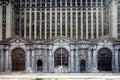
[{"label": "grey stone lower facade with three pediments, around the arched openings", "polygon": [[[62,43],[61,43],[62,42]],[[0,42],[0,71],[12,72],[12,54],[16,48],[25,51],[25,72],[82,72],[80,61],[85,60],[85,70],[83,72],[100,72],[98,70],[98,52],[100,49],[109,49],[112,53],[112,70],[119,72],[118,57],[120,40],[109,36],[92,41],[76,41],[67,37],[56,37],[47,41],[31,41],[20,37],[11,37]],[[68,51],[68,66],[62,68],[54,66],[55,51],[64,48]],[[38,71],[37,61],[42,61],[42,68]],[[110,66],[108,66],[110,67]],[[58,70],[57,70],[58,69]],[[67,71],[65,71],[67,69]],[[16,70],[17,71],[17,70]],[[19,70],[18,70],[19,71]],[[105,71],[105,70],[103,70]],[[106,70],[107,71],[107,70]]]}]

